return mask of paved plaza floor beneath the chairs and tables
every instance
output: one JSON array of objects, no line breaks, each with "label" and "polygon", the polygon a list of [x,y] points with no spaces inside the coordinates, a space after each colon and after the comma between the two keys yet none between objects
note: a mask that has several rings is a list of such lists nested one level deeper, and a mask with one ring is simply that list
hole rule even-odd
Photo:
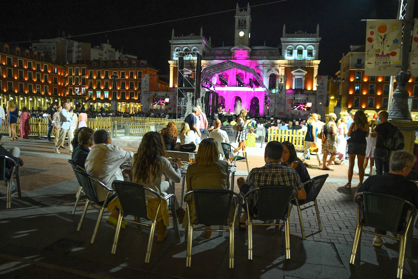
[{"label": "paved plaza floor beneath the chairs and tables", "polygon": [[[53,142],[29,139],[10,143],[18,146],[24,166],[21,168],[23,197],[13,197],[12,209],[6,210],[6,198],[0,197],[0,277],[6,278],[105,278],[143,276],[145,278],[395,278],[399,244],[387,240],[382,248],[372,246],[373,237],[363,235],[357,264],[349,265],[355,231],[357,208],[353,197],[357,187],[343,187],[347,182],[347,166],[335,165],[335,171],[323,171],[315,156],[309,161],[311,177],[328,173],[330,177],[319,196],[318,206],[323,230],[318,231],[315,210],[304,210],[306,240],[301,240],[298,214],[291,212],[291,259],[283,257],[283,238],[273,236],[273,228],[256,227],[253,260],[247,259],[247,233],[239,231],[235,238],[235,267],[228,269],[228,233],[206,239],[194,233],[192,267],[186,268],[186,244],[177,243],[169,229],[168,238],[154,242],[151,260],[144,263],[147,228],[139,234],[128,225],[120,235],[116,255],[112,255],[115,228],[104,215],[94,244],[90,238],[97,211],[90,209],[82,229],[76,227],[84,206],[80,200],[75,215],[71,215],[78,183],[71,166],[68,146],[55,154]],[[135,148],[126,148],[135,151]],[[264,164],[263,148],[249,151],[249,168]],[[235,179],[247,174],[245,163],[237,163]],[[367,177],[366,177],[367,178]],[[358,183],[354,174],[353,185]],[[238,191],[235,181],[234,190]],[[5,193],[4,184],[0,192]],[[180,197],[181,184],[176,184]],[[181,229],[182,241],[184,230]],[[411,257],[405,262],[404,278],[416,278],[418,233],[411,244]]]}]

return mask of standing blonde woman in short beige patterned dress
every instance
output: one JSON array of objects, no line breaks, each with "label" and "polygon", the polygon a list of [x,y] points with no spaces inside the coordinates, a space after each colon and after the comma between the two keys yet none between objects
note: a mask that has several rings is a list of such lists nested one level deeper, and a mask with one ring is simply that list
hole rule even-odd
[{"label": "standing blonde woman in short beige patterned dress", "polygon": [[[325,136],[325,141],[322,144],[322,151],[324,151],[324,157],[322,158],[322,169],[326,171],[333,171],[334,169],[330,167],[331,162],[334,161],[335,155],[337,152],[337,143],[336,143],[336,135],[337,135],[337,126],[335,124],[335,120],[337,120],[337,116],[335,113],[330,113],[328,115],[328,121],[324,125],[323,134]],[[328,164],[326,164],[326,158],[329,153],[332,155],[329,157]]]}]

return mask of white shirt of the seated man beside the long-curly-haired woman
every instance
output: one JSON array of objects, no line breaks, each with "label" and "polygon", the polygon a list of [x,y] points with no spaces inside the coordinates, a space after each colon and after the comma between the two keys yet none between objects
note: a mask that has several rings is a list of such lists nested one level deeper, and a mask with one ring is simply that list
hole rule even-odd
[{"label": "white shirt of the seated man beside the long-curly-haired woman", "polygon": [[[110,143],[99,143],[90,150],[84,166],[88,174],[97,178],[107,187],[112,188],[114,180],[123,181],[120,165],[130,162],[132,157],[132,151],[125,151],[119,146]],[[96,191],[99,201],[106,198],[107,194],[102,186],[97,186]]]}]

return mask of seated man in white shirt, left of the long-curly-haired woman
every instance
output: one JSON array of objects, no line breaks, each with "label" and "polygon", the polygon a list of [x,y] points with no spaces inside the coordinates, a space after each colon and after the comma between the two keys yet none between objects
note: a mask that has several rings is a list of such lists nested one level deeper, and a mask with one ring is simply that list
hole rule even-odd
[{"label": "seated man in white shirt, left of the long-curly-haired woman", "polygon": [[[106,130],[97,130],[93,135],[95,145],[90,150],[84,166],[88,174],[97,178],[108,188],[112,188],[114,180],[122,180],[123,174],[120,165],[132,161],[133,152],[125,151],[119,146],[112,144],[109,133]],[[97,198],[104,201],[107,192],[102,186],[96,187]],[[115,197],[116,195],[113,195]],[[113,198],[109,198],[108,202]],[[115,210],[112,215],[107,218],[107,222],[116,227],[119,212]],[[125,228],[122,225],[122,228]]]}]

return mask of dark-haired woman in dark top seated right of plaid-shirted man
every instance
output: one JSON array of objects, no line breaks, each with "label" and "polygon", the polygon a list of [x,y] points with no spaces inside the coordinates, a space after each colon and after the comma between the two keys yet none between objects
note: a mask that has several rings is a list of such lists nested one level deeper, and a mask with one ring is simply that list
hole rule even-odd
[{"label": "dark-haired woman in dark top seated right of plaid-shirted man", "polygon": [[[302,183],[306,182],[311,179],[309,176],[308,170],[303,165],[303,162],[301,159],[298,158],[296,155],[295,146],[290,141],[283,141],[283,156],[280,159],[282,162],[282,165],[289,166],[296,170],[296,172],[299,174],[299,177],[301,178]],[[305,192],[308,192],[308,189],[311,187],[311,184],[305,184],[303,185],[303,188],[305,189]]]}]

